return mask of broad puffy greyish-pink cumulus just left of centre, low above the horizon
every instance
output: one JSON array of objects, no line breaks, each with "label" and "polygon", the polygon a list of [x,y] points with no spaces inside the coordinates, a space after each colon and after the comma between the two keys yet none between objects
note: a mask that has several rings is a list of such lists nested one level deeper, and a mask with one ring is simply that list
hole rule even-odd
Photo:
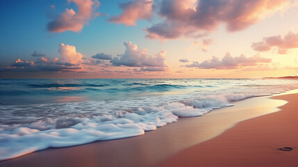
[{"label": "broad puffy greyish-pink cumulus just left of centre, low above the horizon", "polygon": [[158,67],[166,67],[165,65],[165,56],[167,54],[166,51],[160,51],[158,54],[154,56],[148,55],[147,49],[138,49],[137,45],[133,45],[131,42],[124,42],[124,46],[126,50],[124,54],[119,55],[112,60],[110,63],[114,66],[128,66],[128,67],[156,67],[156,68],[148,68],[151,69],[161,69]]}]

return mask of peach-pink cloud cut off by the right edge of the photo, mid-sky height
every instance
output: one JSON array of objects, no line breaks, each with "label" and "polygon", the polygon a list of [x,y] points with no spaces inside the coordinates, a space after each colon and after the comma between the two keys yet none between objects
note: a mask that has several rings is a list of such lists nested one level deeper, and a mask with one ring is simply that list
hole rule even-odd
[{"label": "peach-pink cloud cut off by the right edge of the photo, mid-sky height", "polygon": [[265,37],[260,42],[252,43],[251,47],[256,51],[270,51],[273,47],[276,47],[278,54],[288,54],[289,49],[298,48],[298,33],[290,31],[283,38],[281,35]]}]

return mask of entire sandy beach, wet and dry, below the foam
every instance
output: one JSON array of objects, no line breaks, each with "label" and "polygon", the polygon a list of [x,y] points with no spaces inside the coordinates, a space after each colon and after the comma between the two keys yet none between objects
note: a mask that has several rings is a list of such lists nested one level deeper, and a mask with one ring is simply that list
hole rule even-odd
[{"label": "entire sandy beach, wet and dry, below the foam", "polygon": [[[251,98],[142,136],[42,150],[0,166],[295,166],[298,94],[274,99]],[[284,146],[293,150],[277,150]]]}]

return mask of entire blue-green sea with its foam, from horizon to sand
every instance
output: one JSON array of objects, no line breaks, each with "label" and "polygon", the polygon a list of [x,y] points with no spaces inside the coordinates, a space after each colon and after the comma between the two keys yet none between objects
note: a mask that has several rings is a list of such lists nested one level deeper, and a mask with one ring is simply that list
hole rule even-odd
[{"label": "entire blue-green sea with its foam, from horizon to sand", "polygon": [[282,79],[0,79],[0,160],[139,136],[297,88]]}]

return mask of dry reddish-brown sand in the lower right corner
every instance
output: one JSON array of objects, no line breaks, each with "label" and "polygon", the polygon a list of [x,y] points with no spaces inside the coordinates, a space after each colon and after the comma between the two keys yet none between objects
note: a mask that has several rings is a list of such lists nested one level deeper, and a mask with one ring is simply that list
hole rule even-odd
[{"label": "dry reddish-brown sand in the lower right corner", "polygon": [[[298,166],[298,94],[282,111],[238,123],[204,143],[174,154],[157,166]],[[279,148],[290,147],[292,151]]]}]

